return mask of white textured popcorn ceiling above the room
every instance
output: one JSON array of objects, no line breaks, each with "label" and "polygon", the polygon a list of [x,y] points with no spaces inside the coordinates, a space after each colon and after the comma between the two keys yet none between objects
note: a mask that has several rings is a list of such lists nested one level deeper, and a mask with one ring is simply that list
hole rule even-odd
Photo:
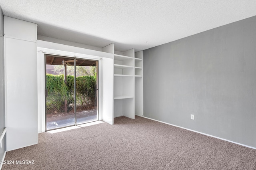
[{"label": "white textured popcorn ceiling above the room", "polygon": [[38,35],[136,51],[256,16],[256,0],[0,0]]}]

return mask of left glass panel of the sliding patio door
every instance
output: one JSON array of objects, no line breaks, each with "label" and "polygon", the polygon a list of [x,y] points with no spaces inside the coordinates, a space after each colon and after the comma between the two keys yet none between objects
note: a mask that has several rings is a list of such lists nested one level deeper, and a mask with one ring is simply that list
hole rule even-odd
[{"label": "left glass panel of the sliding patio door", "polygon": [[46,55],[46,130],[75,125],[74,62]]}]

